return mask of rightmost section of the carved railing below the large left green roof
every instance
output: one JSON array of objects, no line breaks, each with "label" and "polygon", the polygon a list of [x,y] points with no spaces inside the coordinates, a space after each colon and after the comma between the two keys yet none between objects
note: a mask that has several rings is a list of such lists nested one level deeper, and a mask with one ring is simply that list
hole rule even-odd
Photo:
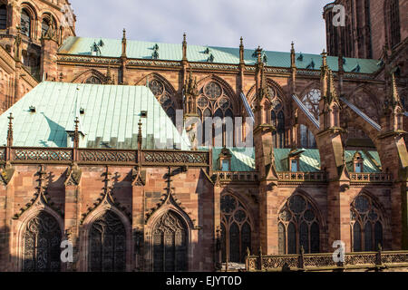
[{"label": "rightmost section of the carved railing below the large left green roof", "polygon": [[141,164],[151,166],[166,166],[170,164],[187,166],[209,166],[209,152],[143,150],[141,151]]}]

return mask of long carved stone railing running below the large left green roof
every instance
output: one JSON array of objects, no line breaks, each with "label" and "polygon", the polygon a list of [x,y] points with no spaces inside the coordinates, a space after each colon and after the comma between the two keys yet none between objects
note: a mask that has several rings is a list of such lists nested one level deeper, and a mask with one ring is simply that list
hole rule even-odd
[{"label": "long carved stone railing running below the large left green roof", "polygon": [[0,147],[0,162],[209,167],[208,151]]}]

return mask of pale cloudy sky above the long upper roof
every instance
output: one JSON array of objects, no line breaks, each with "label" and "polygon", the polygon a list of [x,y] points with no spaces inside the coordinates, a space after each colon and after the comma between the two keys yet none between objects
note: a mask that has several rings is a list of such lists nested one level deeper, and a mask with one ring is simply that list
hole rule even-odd
[{"label": "pale cloudy sky above the long upper roof", "polygon": [[329,0],[71,0],[76,34],[130,40],[321,53]]}]

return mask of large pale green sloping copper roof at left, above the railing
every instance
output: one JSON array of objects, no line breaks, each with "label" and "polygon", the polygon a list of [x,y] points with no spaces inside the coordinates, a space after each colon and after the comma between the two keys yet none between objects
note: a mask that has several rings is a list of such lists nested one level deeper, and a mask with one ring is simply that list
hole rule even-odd
[{"label": "large pale green sloping copper roof at left, above the railing", "polygon": [[[141,118],[141,111],[147,111],[147,118]],[[190,148],[186,132],[179,133],[143,86],[41,82],[0,116],[0,145],[6,144],[10,112],[15,118],[14,146],[67,147],[66,131],[73,131],[79,116],[82,148],[137,149],[140,120],[144,149],[161,149],[157,141],[167,149]]]}]

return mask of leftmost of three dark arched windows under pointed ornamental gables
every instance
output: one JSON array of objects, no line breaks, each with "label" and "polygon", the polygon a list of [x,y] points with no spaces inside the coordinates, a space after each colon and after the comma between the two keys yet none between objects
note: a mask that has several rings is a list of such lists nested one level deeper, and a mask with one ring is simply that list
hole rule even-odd
[{"label": "leftmost of three dark arched windows under pointed ornamental gables", "polygon": [[53,216],[42,211],[24,232],[24,272],[58,272],[61,267],[61,228]]}]

